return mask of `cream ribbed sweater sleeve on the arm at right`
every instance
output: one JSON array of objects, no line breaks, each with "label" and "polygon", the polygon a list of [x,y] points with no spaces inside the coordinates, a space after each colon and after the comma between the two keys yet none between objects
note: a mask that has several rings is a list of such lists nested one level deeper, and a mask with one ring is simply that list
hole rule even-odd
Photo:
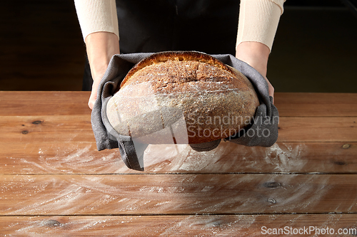
[{"label": "cream ribbed sweater sleeve on the arm at right", "polygon": [[241,0],[236,46],[241,42],[254,41],[265,44],[271,50],[285,1]]}]

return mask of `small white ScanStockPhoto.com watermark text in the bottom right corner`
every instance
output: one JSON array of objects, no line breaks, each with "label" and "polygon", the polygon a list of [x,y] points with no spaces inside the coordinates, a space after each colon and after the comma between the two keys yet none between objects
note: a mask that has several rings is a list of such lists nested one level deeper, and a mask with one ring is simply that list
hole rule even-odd
[{"label": "small white ScanStockPhoto.com watermark text in the bottom right corner", "polygon": [[283,228],[268,228],[266,226],[261,227],[262,235],[357,235],[357,228],[330,228],[328,226],[319,228],[317,226],[303,226],[301,228],[293,228],[291,226],[284,226]]}]

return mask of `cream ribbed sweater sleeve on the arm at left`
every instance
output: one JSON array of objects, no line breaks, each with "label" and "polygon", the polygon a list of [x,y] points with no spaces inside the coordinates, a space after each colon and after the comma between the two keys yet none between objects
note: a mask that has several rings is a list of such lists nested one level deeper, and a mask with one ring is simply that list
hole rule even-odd
[{"label": "cream ribbed sweater sleeve on the arm at left", "polygon": [[105,31],[119,38],[115,0],[74,0],[84,40],[90,33]]}]

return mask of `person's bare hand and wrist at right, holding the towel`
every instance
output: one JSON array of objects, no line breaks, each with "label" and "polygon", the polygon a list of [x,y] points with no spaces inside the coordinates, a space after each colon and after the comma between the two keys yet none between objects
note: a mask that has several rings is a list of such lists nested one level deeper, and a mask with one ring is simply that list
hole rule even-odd
[{"label": "person's bare hand and wrist at right, holding the towel", "polygon": [[273,85],[266,78],[269,53],[268,46],[258,42],[242,42],[236,48],[236,58],[248,63],[263,75],[268,83],[269,95],[274,99]]}]

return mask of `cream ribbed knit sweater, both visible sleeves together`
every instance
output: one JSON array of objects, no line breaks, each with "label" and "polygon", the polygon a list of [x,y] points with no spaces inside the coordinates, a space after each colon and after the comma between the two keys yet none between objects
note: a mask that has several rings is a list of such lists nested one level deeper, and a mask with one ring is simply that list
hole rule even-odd
[{"label": "cream ribbed knit sweater, both visible sleeves together", "polygon": [[[241,0],[236,45],[254,41],[271,49],[284,1]],[[84,39],[99,31],[115,33],[119,37],[115,0],[74,0],[74,4]]]}]

